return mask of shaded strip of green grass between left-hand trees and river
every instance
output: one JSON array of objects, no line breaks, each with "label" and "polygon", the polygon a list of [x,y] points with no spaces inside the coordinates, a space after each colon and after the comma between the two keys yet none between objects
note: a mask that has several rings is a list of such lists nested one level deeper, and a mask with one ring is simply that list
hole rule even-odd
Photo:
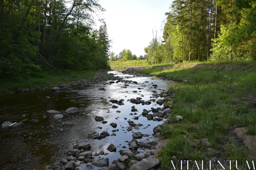
[{"label": "shaded strip of green grass between left-hand trees and river", "polygon": [[80,79],[90,79],[95,71],[61,71],[58,74],[55,71],[35,71],[29,75],[19,75],[18,77],[0,79],[0,93],[13,92],[20,88],[39,88],[49,85],[69,83]]}]

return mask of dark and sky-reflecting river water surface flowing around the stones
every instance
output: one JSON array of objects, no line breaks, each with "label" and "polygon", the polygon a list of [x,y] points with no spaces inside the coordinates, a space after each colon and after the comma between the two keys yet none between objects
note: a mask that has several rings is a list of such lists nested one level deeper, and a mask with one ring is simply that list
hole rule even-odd
[{"label": "dark and sky-reflecting river water surface flowing around the stones", "polygon": [[[122,82],[111,85],[108,85],[108,82],[102,82],[88,86],[72,86],[59,93],[44,90],[0,96],[0,123],[22,121],[25,124],[25,127],[20,129],[0,129],[0,169],[42,170],[44,166],[67,157],[65,153],[71,150],[75,143],[83,142],[91,144],[93,154],[100,151],[109,153],[108,155],[100,155],[100,157],[108,158],[111,162],[120,158],[121,155],[118,151],[123,149],[122,146],[129,147],[128,143],[124,141],[130,141],[133,132],[150,135],[149,137],[142,137],[138,141],[152,140],[153,128],[163,122],[148,121],[146,117],[142,116],[138,120],[133,120],[134,115],[129,114],[135,113],[131,112],[132,106],[135,106],[138,110],[136,116],[139,116],[143,109],[151,110],[151,107],[161,106],[156,102],[152,102],[150,105],[136,105],[127,101],[127,99],[136,99],[136,97],[143,95],[142,100],[148,101],[151,99],[150,97],[153,97],[153,90],[159,93],[168,90],[170,86],[177,85],[177,82],[156,77],[133,77],[133,75],[116,71],[109,71],[108,73],[114,73],[115,76],[122,77],[124,80],[137,81],[138,84],[131,83],[128,88],[121,88],[121,86],[124,86]],[[145,83],[145,81],[149,83]],[[157,89],[152,88],[152,83],[157,84]],[[106,91],[98,90],[99,87],[105,87]],[[136,93],[133,92],[135,90]],[[46,96],[50,98],[47,99]],[[114,104],[118,108],[113,109],[110,106],[112,104],[109,102],[110,99],[124,99],[124,105]],[[158,99],[160,97],[156,100]],[[74,100],[74,102],[70,100]],[[81,104],[84,104],[84,106],[81,106]],[[47,110],[61,112],[69,107],[80,108],[80,113],[65,115],[61,121],[53,121],[53,115],[46,113]],[[121,113],[117,113],[117,110]],[[21,115],[26,116],[21,117]],[[94,120],[95,116],[104,117],[104,120],[108,123],[96,122]],[[124,118],[131,119],[136,124],[141,123],[143,126],[139,127],[139,130],[127,131],[129,124]],[[31,119],[38,119],[39,122],[29,122]],[[110,126],[111,122],[115,122],[117,128]],[[99,126],[102,129],[99,129]],[[142,129],[146,126],[148,126],[146,129]],[[109,134],[112,134],[113,129],[119,129],[119,131],[114,132],[116,136],[109,136],[101,140],[87,139],[89,133],[108,131]],[[45,139],[49,142],[47,145],[43,145],[44,142],[42,141]],[[109,144],[114,144],[117,147],[116,152],[107,150]],[[95,160],[97,159],[96,156]],[[82,164],[78,168],[81,170],[88,169],[86,164]],[[95,166],[90,166],[90,168],[99,169]]]}]

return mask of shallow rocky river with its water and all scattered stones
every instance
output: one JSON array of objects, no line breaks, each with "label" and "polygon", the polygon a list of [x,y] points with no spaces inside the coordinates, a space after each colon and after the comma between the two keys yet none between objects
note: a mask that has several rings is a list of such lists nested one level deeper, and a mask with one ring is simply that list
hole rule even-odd
[{"label": "shallow rocky river with its water and all scattered stones", "polygon": [[1,96],[0,166],[6,170],[160,167],[156,154],[164,143],[159,138],[161,125],[172,121],[168,101],[174,96],[166,90],[177,83],[125,73],[129,72],[101,72],[91,81]]}]

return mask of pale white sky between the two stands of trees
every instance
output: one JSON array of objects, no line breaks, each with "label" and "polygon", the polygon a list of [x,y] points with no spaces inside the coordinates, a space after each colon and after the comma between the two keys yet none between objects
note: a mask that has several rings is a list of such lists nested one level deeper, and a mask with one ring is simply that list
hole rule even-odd
[{"label": "pale white sky between the two stands of trees", "polygon": [[106,9],[101,18],[105,18],[109,39],[113,40],[110,50],[118,54],[125,48],[137,56],[144,55],[144,47],[153,38],[152,27],[158,28],[159,37],[164,13],[171,3],[172,0],[99,0]]}]

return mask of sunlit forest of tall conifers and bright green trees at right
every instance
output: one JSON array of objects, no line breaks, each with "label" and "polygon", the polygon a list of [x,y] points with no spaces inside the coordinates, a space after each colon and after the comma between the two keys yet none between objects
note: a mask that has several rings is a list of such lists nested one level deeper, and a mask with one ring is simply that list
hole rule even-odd
[{"label": "sunlit forest of tall conifers and bright green trees at right", "polygon": [[165,15],[163,37],[152,28],[144,48],[149,63],[256,59],[254,0],[175,0]]}]

